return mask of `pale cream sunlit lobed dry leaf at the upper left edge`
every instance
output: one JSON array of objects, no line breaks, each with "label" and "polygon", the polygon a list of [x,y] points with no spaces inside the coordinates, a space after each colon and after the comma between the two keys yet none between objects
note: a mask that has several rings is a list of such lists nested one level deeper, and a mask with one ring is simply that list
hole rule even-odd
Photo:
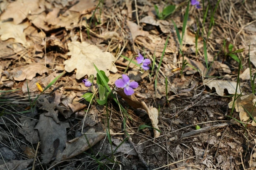
[{"label": "pale cream sunlit lobed dry leaf at the upper left edge", "polygon": [[29,26],[29,22],[24,22],[15,25],[14,22],[0,22],[1,40],[5,41],[9,38],[14,38],[15,43],[21,43],[24,47],[28,47],[29,43],[26,40],[24,29]]}]

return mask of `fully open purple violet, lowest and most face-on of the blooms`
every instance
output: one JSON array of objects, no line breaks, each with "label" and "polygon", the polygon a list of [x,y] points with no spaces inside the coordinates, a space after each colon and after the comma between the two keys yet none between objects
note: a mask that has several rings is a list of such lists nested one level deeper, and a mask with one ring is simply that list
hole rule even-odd
[{"label": "fully open purple violet, lowest and most face-on of the blooms", "polygon": [[115,84],[118,88],[124,88],[124,93],[126,93],[127,96],[130,96],[134,93],[135,88],[139,86],[139,84],[136,81],[130,82],[130,79],[126,74],[122,75],[123,79],[117,79]]}]

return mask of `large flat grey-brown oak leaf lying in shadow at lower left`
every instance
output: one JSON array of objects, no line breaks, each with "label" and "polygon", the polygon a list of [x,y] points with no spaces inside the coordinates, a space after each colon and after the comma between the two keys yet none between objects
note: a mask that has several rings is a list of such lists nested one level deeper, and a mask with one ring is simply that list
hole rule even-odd
[{"label": "large flat grey-brown oak leaf lying in shadow at lower left", "polygon": [[[52,117],[45,116],[43,113],[40,115],[35,129],[39,131],[41,151],[43,154],[50,155],[53,158],[58,151],[62,152],[64,150],[66,146],[65,142],[68,141],[66,128],[69,127],[68,123],[60,122],[58,124]],[[58,141],[58,145],[54,146],[56,141]],[[51,161],[51,158],[44,161],[44,163]]]}]

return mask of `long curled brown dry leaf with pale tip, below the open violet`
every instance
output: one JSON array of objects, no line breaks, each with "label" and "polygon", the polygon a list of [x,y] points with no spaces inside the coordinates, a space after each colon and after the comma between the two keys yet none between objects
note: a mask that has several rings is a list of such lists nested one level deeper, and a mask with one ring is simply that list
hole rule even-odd
[{"label": "long curled brown dry leaf with pale tip, below the open violet", "polygon": [[[121,91],[116,91],[130,106],[132,106],[133,108],[137,109],[137,108],[141,108],[144,109],[148,116],[150,117],[151,123],[152,123],[152,127],[159,129],[159,127],[157,126],[158,124],[158,110],[157,108],[151,108],[149,109],[146,105],[146,103],[144,101],[139,102],[137,100],[137,98],[134,96],[134,94],[127,96],[123,90]],[[160,136],[160,132],[158,132],[157,130],[153,130],[154,131],[154,137],[159,137]]]}]

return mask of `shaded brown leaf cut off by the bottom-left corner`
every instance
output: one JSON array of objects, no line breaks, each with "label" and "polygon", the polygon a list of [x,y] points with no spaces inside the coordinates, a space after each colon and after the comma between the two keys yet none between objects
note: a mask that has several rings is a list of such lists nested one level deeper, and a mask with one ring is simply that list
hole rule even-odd
[{"label": "shaded brown leaf cut off by the bottom-left corner", "polygon": [[0,165],[0,170],[6,170],[6,166],[9,170],[24,170],[27,168],[29,164],[33,162],[34,159],[28,159],[28,160],[11,160],[7,162],[6,164]]}]

